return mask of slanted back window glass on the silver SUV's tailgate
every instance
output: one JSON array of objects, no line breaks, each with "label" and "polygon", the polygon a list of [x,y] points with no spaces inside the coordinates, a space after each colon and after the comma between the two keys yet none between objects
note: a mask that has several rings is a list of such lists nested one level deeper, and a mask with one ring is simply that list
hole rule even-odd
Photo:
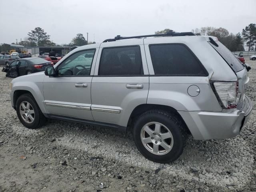
[{"label": "slanted back window glass on the silver SUV's tailgate", "polygon": [[[222,56],[226,63],[232,68],[234,72],[238,72],[244,69],[243,64],[226,48],[221,42],[215,41],[216,45],[209,42],[209,44]],[[213,42],[214,43],[214,42]],[[217,46],[218,45],[218,46]]]}]

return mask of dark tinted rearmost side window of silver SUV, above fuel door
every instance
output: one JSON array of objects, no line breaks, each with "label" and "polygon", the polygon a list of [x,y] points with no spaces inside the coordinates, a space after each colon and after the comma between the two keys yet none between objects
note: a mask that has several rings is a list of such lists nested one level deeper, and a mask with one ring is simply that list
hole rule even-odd
[{"label": "dark tinted rearmost side window of silver SUV, above fuel door", "polygon": [[208,76],[200,61],[183,44],[150,45],[155,75]]}]

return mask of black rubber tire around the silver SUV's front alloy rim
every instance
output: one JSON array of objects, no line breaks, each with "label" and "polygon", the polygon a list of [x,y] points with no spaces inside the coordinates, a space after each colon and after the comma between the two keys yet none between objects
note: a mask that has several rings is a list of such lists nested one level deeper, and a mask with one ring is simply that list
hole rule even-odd
[{"label": "black rubber tire around the silver SUV's front alloy rim", "polygon": [[[32,123],[26,123],[20,114],[20,104],[21,102],[29,102],[33,109],[34,109],[34,121]],[[34,99],[34,97],[31,94],[23,94],[21,95],[17,101],[16,101],[16,112],[18,115],[18,118],[20,120],[20,122],[27,128],[29,129],[36,129],[39,128],[41,126],[44,125],[44,123],[46,122],[46,117],[44,116],[44,114],[42,113],[42,111],[40,110],[38,104],[36,103],[36,100]]]}]

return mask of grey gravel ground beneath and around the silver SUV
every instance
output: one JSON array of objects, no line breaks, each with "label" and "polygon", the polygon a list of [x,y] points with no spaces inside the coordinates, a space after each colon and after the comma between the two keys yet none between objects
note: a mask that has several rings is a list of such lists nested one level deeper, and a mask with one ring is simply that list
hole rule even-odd
[{"label": "grey gravel ground beneath and around the silver SUV", "polygon": [[[246,94],[256,106],[256,61]],[[256,191],[256,110],[239,136],[197,141],[158,164],[142,156],[130,132],[57,120],[25,128],[0,72],[0,191]]]}]

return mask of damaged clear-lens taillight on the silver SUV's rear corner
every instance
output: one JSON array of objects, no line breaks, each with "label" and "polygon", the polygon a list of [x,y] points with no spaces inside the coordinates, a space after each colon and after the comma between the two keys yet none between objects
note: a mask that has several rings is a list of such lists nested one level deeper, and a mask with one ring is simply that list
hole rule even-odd
[{"label": "damaged clear-lens taillight on the silver SUV's rear corner", "polygon": [[239,101],[238,81],[211,82],[211,86],[222,108],[236,108]]}]

